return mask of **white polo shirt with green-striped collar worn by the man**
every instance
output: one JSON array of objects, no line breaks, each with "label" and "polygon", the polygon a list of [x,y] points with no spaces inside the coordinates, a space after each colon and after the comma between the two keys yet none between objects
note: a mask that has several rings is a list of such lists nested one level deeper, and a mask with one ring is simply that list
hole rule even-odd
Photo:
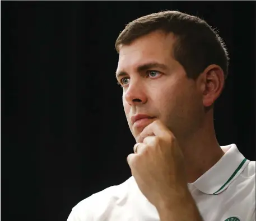
[{"label": "white polo shirt with green-striped collar worn by the man", "polygon": [[[255,161],[246,160],[235,144],[192,184],[190,193],[204,221],[255,221]],[[185,210],[185,208],[184,208]],[[68,221],[157,221],[159,215],[133,177],[91,195],[73,209]]]}]

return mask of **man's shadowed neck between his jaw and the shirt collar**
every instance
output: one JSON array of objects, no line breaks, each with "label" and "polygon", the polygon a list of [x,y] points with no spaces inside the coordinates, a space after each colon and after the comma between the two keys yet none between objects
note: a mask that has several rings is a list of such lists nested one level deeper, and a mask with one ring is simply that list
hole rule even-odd
[{"label": "man's shadowed neck between his jaw and the shirt collar", "polygon": [[224,155],[214,131],[213,110],[207,115],[201,128],[189,138],[179,140],[185,158],[187,182],[196,181]]}]

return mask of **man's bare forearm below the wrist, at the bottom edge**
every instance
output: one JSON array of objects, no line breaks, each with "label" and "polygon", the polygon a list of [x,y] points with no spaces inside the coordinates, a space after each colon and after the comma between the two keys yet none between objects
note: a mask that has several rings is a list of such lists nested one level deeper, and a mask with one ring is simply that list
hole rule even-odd
[{"label": "man's bare forearm below the wrist, at the bottom edge", "polygon": [[163,201],[157,211],[161,221],[203,221],[189,192],[185,196],[174,197],[171,201]]}]

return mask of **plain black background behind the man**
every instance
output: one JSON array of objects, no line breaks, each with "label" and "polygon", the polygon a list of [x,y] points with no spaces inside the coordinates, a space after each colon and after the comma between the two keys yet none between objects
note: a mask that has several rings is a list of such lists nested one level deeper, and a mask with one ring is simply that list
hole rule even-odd
[{"label": "plain black background behind the man", "polygon": [[165,9],[220,30],[231,64],[217,138],[255,160],[255,1],[2,1],[3,220],[66,220],[82,199],[128,179],[135,141],[114,44],[125,24]]}]

